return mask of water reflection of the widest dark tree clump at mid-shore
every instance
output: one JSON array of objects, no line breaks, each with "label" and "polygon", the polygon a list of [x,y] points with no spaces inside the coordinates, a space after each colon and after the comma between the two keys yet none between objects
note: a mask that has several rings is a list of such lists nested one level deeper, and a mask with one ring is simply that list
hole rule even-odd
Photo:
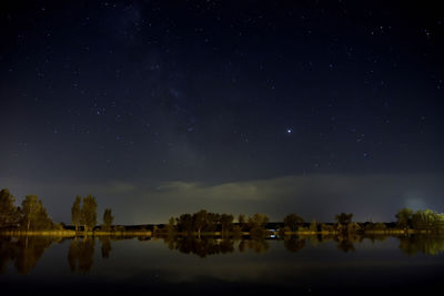
[{"label": "water reflection of the widest dark tree clump at mid-shore", "polygon": [[164,237],[170,249],[178,249],[184,254],[195,254],[200,257],[208,255],[225,254],[234,252],[232,239],[195,238],[192,236]]}]

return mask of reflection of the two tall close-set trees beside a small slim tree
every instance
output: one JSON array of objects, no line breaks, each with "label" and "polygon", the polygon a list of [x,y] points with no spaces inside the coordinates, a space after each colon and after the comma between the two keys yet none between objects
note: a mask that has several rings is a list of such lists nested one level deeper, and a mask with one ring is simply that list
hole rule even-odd
[{"label": "reflection of the two tall close-set trees beside a small slim tree", "polygon": [[68,262],[71,272],[74,272],[77,267],[83,274],[91,269],[94,263],[94,238],[91,237],[84,237],[82,241],[78,238],[72,241],[68,251]]}]

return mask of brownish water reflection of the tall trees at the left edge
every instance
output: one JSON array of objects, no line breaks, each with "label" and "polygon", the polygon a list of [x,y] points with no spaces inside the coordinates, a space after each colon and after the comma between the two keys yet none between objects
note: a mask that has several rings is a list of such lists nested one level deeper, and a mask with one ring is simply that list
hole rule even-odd
[{"label": "brownish water reflection of the tall trees at the left edge", "polygon": [[50,236],[0,237],[0,273],[12,261],[20,274],[29,274],[44,251],[58,238]]}]

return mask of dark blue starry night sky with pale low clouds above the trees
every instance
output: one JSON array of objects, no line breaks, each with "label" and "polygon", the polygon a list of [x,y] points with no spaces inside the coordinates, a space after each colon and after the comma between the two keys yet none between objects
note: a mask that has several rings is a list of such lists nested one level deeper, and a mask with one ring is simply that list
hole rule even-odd
[{"label": "dark blue starry night sky with pale low clouds above the trees", "polygon": [[433,2],[0,3],[0,188],[57,222],[444,212],[443,100]]}]

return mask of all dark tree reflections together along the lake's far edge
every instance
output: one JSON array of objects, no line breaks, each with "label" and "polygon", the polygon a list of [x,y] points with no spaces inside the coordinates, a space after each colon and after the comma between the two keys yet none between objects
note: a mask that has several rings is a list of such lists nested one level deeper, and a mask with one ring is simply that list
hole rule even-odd
[{"label": "all dark tree reflections together along the lake's far edge", "polygon": [[[356,245],[364,239],[373,244],[380,244],[387,239],[386,235],[312,235],[312,236],[285,236],[280,239],[286,251],[296,253],[307,245],[319,245],[325,242],[334,242],[337,251],[350,253],[356,251]],[[132,237],[133,238],[133,237]],[[19,274],[29,274],[42,257],[43,253],[51,246],[64,239],[69,241],[68,263],[71,272],[87,274],[94,264],[95,243],[100,243],[100,254],[103,259],[108,259],[112,252],[112,241],[129,239],[128,237],[75,237],[60,238],[52,236],[0,236],[0,274],[8,269],[9,262],[12,263]],[[138,237],[139,241],[148,241],[150,237]],[[400,236],[398,248],[414,256],[415,254],[438,255],[444,252],[444,236],[432,235],[411,235]],[[270,249],[270,239],[251,238],[220,238],[220,237],[189,237],[189,236],[169,236],[163,237],[163,242],[171,251],[178,251],[182,254],[193,254],[201,258],[229,253],[254,252],[263,254]],[[279,242],[278,242],[279,243]]]}]

